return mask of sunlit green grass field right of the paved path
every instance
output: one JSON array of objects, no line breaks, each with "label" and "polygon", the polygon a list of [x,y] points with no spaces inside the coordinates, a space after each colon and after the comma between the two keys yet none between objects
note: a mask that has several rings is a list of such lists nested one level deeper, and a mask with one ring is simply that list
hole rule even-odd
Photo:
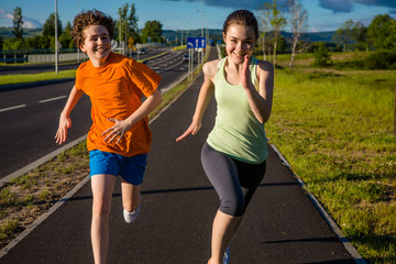
[{"label": "sunlit green grass field right of the paved path", "polygon": [[[353,68],[360,57],[333,55],[333,68]],[[311,63],[308,54],[276,69],[270,142],[367,263],[396,263],[396,70]]]}]

